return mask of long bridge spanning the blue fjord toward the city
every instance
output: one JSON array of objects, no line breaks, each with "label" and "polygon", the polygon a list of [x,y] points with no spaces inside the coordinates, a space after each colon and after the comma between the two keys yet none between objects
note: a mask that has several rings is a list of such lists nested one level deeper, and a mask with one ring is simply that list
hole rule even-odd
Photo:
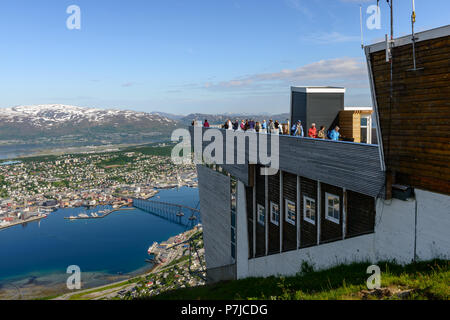
[{"label": "long bridge spanning the blue fjord toward the city", "polygon": [[199,209],[181,204],[134,198],[133,206],[185,227],[201,223]]}]

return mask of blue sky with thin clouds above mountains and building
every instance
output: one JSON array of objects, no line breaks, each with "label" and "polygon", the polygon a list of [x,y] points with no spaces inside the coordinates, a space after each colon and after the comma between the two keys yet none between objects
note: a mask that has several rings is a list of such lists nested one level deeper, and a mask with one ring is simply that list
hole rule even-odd
[{"label": "blue sky with thin clouds above mountains and building", "polygon": [[[69,30],[70,5],[81,29]],[[2,0],[0,107],[60,103],[192,112],[287,112],[289,86],[339,85],[370,105],[359,6],[376,0]],[[364,27],[366,44],[389,33]],[[411,1],[395,1],[395,35]],[[417,30],[450,1],[416,0]]]}]

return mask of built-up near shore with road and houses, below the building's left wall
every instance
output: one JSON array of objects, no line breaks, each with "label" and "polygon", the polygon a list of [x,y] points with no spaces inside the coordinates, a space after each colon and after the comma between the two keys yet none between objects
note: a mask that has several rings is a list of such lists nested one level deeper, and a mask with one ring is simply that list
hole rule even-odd
[{"label": "built-up near shore with road and houses, below the building's left wall", "polygon": [[98,288],[66,293],[55,300],[147,299],[164,292],[205,285],[205,249],[201,224],[161,243],[148,251],[153,256],[152,270],[126,281]]}]

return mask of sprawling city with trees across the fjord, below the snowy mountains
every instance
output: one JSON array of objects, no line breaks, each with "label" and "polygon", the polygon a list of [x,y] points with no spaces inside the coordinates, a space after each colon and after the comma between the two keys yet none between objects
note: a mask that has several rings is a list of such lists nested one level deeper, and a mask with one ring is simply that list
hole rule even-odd
[{"label": "sprawling city with trees across the fjord, below the snowy mountains", "polygon": [[194,165],[168,161],[168,146],[42,156],[0,164],[0,229],[45,218],[59,208],[131,204],[157,189],[196,187]]}]

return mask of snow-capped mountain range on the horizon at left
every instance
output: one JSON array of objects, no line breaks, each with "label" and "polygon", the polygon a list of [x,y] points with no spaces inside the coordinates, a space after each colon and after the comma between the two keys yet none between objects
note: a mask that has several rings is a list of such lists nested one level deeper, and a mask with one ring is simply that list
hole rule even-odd
[{"label": "snow-capped mountain range on the horizon at left", "polygon": [[168,136],[177,126],[176,120],[163,115],[131,110],[60,104],[0,108],[0,141],[64,140],[70,136],[72,140],[122,143],[141,141],[143,136]]}]

